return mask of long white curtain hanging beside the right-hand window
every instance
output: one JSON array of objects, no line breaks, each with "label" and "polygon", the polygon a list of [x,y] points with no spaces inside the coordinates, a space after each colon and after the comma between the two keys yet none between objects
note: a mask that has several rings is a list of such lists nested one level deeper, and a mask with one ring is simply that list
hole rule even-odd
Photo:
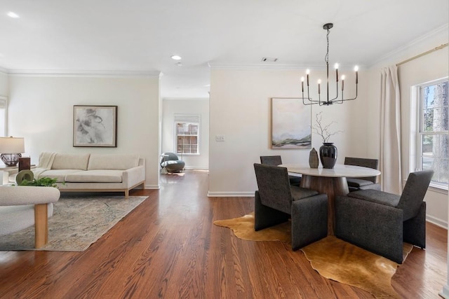
[{"label": "long white curtain hanging beside the right-hand window", "polygon": [[382,69],[380,90],[380,183],[382,190],[402,193],[401,94],[396,65]]}]

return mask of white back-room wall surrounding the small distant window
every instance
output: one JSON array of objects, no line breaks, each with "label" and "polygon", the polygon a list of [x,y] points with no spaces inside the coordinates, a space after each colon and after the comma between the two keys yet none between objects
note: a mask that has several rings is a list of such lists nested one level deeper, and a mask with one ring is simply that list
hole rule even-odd
[{"label": "white back-room wall surrounding the small distant window", "polygon": [[[197,114],[200,116],[199,155],[182,155],[187,169],[209,167],[209,99],[163,99],[162,102],[162,149],[175,151],[175,114]],[[181,157],[180,157],[181,158]]]}]

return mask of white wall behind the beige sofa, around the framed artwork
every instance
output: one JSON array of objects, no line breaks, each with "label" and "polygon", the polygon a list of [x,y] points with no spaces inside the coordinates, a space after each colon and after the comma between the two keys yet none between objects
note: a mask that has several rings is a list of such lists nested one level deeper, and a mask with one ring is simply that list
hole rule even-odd
[{"label": "white wall behind the beige sofa, around the framed artwork", "polygon": [[[159,76],[9,77],[8,135],[25,137],[33,164],[43,151],[138,153],[146,159],[145,188],[159,188]],[[116,105],[117,147],[73,147],[74,105]]]}]

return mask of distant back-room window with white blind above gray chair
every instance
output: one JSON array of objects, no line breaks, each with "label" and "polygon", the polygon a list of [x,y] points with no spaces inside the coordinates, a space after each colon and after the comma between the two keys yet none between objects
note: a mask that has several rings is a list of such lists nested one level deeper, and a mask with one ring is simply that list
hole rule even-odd
[{"label": "distant back-room window with white blind above gray chair", "polygon": [[199,116],[175,116],[176,153],[199,154]]}]

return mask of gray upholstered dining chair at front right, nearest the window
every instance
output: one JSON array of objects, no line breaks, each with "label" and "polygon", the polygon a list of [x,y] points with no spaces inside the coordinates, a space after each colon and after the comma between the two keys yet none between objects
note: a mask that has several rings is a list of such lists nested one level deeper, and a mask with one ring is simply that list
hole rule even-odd
[{"label": "gray upholstered dining chair at front right, nearest the window", "polygon": [[403,242],[426,247],[424,195],[433,174],[410,173],[401,195],[359,190],[337,196],[335,236],[401,264]]}]

